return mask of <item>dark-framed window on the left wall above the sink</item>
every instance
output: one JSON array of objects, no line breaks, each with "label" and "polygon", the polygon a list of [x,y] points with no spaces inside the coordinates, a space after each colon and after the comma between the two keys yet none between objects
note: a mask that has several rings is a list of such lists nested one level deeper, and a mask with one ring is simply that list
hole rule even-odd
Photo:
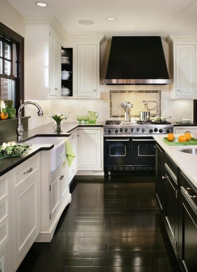
[{"label": "dark-framed window on the left wall above the sink", "polygon": [[18,111],[24,102],[24,38],[0,23],[0,107],[13,99]]}]

